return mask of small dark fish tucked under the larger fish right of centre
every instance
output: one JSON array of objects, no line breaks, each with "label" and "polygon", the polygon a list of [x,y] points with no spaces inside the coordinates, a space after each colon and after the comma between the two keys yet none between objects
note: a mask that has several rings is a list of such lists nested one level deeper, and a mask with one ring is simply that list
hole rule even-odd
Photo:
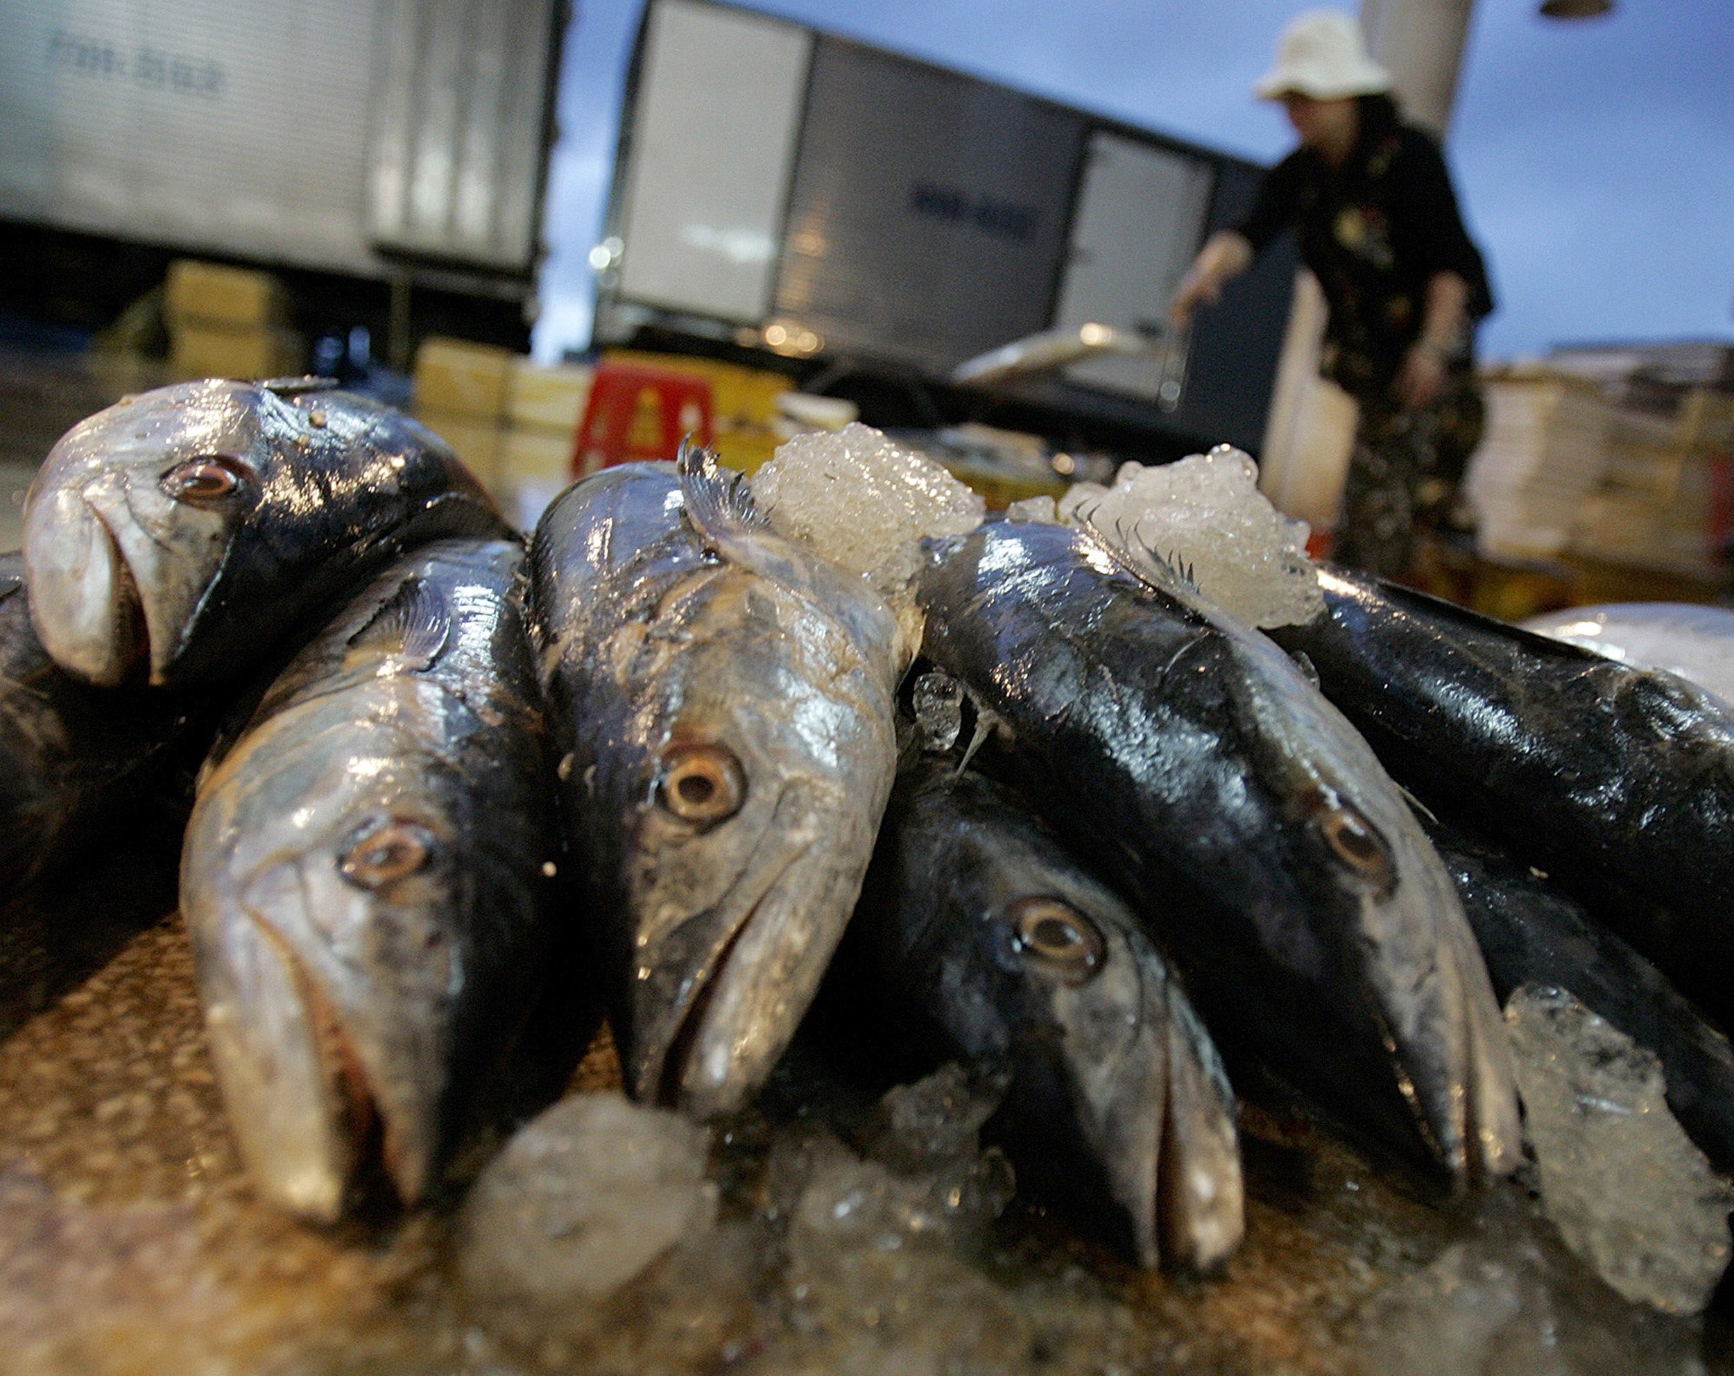
[{"label": "small dark fish tucked under the larger fish right of centre", "polygon": [[1009,1072],[1020,1178],[1110,1215],[1141,1265],[1238,1246],[1221,1057],[1131,909],[1014,790],[948,757],[903,772],[839,965],[903,1043]]}]

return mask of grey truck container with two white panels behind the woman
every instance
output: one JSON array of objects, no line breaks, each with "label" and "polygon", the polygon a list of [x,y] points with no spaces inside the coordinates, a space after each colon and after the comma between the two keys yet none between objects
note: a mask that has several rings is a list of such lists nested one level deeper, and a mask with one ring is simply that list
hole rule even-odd
[{"label": "grey truck container with two white panels behind the woman", "polygon": [[943,385],[1085,323],[1144,349],[999,383],[1023,404],[1255,451],[1295,257],[1191,333],[1167,300],[1262,168],[714,0],[650,0],[628,76],[595,335],[768,349]]}]

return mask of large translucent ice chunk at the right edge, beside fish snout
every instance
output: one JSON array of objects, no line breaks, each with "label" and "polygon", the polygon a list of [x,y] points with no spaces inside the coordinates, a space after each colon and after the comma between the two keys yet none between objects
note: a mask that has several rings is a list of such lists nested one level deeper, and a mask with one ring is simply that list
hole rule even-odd
[{"label": "large translucent ice chunk at the right edge, beside fish snout", "polygon": [[1562,989],[1505,1006],[1542,1204],[1628,1300],[1696,1314],[1729,1263],[1729,1187],[1663,1102],[1661,1064]]}]

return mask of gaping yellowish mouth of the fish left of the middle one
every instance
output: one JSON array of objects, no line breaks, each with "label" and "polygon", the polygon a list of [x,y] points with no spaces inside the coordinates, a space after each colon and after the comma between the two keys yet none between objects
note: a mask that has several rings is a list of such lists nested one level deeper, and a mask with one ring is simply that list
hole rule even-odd
[{"label": "gaping yellowish mouth of the fish left of the middle one", "polygon": [[312,1223],[338,1222],[383,1175],[404,1204],[434,1175],[437,1133],[380,1091],[362,1045],[290,940],[243,909],[222,937],[206,1025],[241,1156],[255,1185]]}]

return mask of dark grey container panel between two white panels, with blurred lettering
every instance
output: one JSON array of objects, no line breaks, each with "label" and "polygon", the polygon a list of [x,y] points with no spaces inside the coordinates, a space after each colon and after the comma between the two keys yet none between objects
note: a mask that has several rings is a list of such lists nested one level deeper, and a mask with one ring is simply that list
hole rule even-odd
[{"label": "dark grey container panel between two white panels, with blurred lettering", "polygon": [[779,318],[936,377],[1044,328],[1084,130],[1073,109],[820,38]]}]

